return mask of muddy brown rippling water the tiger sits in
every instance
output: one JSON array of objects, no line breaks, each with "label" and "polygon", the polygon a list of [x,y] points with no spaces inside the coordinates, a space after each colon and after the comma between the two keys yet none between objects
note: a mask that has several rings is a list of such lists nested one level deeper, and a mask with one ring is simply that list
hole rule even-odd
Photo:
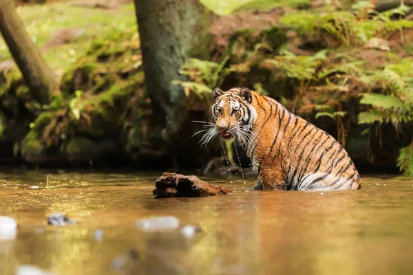
[{"label": "muddy brown rippling water the tiger sits in", "polygon": [[[321,193],[246,192],[253,179],[201,177],[240,192],[153,199],[159,175],[0,173],[0,215],[19,223],[16,239],[0,241],[0,274],[22,264],[61,275],[413,274],[412,178],[366,176],[362,190]],[[78,224],[47,225],[54,212]],[[187,239],[134,225],[161,215],[204,232]],[[112,267],[130,248],[138,264]]]}]

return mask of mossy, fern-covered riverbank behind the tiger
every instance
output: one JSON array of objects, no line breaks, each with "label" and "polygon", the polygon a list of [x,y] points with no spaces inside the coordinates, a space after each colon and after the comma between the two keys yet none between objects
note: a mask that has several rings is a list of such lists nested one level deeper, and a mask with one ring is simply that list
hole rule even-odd
[{"label": "mossy, fern-covered riverbank behind the tiger", "polygon": [[[282,102],[335,136],[361,170],[399,170],[398,163],[409,163],[413,133],[409,9],[377,14],[367,3],[350,8],[316,2],[250,1],[215,10],[236,14],[221,15],[211,26],[213,43],[202,54],[207,60],[193,59],[182,68],[190,118],[179,144],[165,140],[162,119],[152,112],[131,3],[110,9],[71,2],[21,7],[28,32],[61,79],[61,91],[47,106],[36,103],[0,46],[6,61],[1,162],[202,167],[222,148],[217,142],[201,150],[199,137],[192,137],[200,125],[191,120],[209,120],[209,92],[219,85],[251,87]],[[401,148],[407,148],[407,158]],[[248,166],[244,153],[241,158]]]}]

